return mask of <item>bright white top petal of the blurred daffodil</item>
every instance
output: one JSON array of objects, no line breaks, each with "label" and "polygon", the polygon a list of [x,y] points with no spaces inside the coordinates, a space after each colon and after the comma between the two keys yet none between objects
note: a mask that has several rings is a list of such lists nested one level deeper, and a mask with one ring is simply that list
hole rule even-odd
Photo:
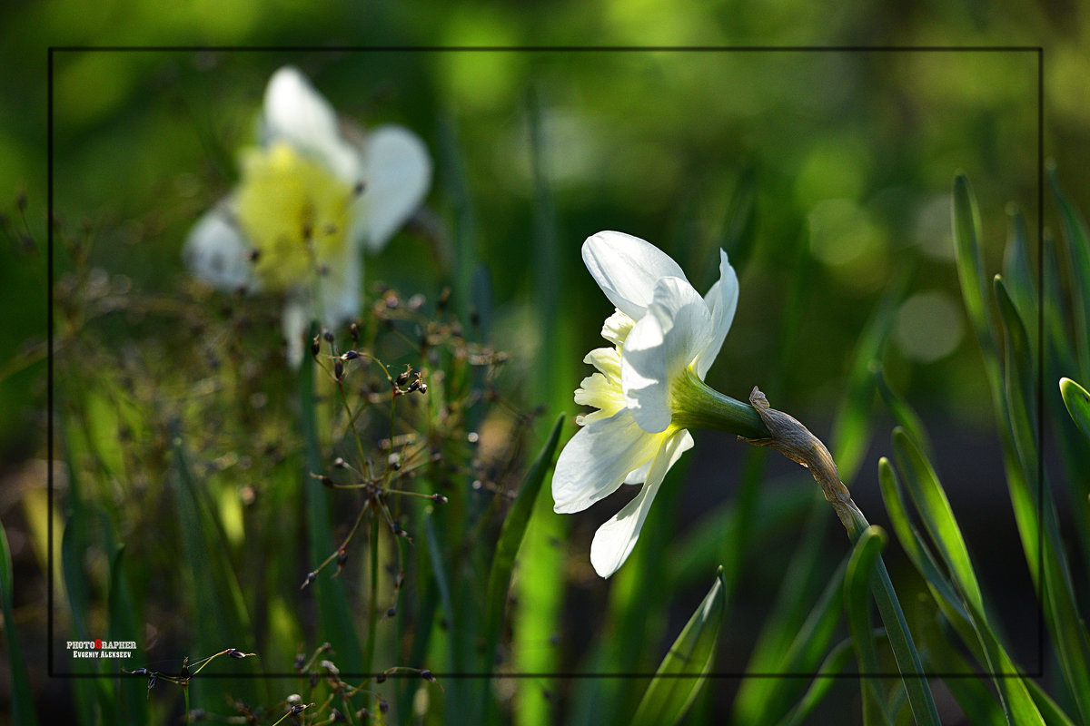
[{"label": "bright white top petal of the blurred daffodil", "polygon": [[284,140],[326,165],[342,182],[360,181],[360,152],[341,136],[337,113],[299,69],[286,65],[269,78],[262,139]]}]

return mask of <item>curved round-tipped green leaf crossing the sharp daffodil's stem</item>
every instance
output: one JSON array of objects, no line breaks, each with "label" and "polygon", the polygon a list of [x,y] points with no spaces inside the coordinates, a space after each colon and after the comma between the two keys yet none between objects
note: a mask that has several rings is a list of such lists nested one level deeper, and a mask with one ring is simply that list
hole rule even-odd
[{"label": "curved round-tipped green leaf crossing the sharp daffodil's stem", "polygon": [[888,724],[882,699],[882,682],[867,674],[881,673],[879,653],[874,647],[874,630],[871,626],[871,582],[874,566],[885,547],[885,532],[880,527],[868,527],[856,540],[844,576],[844,610],[848,615],[848,628],[859,663],[863,694],[863,723]]}]

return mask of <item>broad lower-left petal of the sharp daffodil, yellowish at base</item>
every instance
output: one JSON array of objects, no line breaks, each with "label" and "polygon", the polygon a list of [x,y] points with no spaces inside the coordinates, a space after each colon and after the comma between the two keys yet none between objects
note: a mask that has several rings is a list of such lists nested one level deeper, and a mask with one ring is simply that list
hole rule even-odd
[{"label": "broad lower-left petal of the sharp daffodil, yellowish at base", "polygon": [[654,457],[663,436],[647,434],[628,410],[592,421],[565,445],[553,473],[553,509],[581,512],[620,487]]}]

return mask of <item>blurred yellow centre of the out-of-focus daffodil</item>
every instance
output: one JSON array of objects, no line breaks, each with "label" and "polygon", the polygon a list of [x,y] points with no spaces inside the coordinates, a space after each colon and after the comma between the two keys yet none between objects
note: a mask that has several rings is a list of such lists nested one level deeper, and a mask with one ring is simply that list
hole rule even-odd
[{"label": "blurred yellow centre of the out-of-focus daffodil", "polygon": [[340,263],[352,192],[288,144],[244,152],[235,214],[253,247],[254,272],[267,288],[306,283]]}]

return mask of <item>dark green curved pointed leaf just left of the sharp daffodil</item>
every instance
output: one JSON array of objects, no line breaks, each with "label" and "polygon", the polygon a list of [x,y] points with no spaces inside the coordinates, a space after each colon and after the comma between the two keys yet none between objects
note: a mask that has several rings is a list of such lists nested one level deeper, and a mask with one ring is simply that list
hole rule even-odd
[{"label": "dark green curved pointed leaf just left of the sharp daffodil", "polygon": [[522,487],[514,497],[514,504],[504,519],[504,526],[499,531],[499,540],[496,542],[496,552],[492,559],[492,570],[488,574],[487,590],[487,639],[488,648],[485,650],[487,659],[486,668],[491,672],[496,641],[499,637],[502,625],[504,611],[507,607],[507,593],[511,586],[511,571],[514,569],[514,558],[519,553],[522,539],[526,532],[526,522],[533,512],[537,492],[545,480],[545,473],[553,464],[553,455],[556,453],[557,443],[560,441],[560,431],[564,428],[565,417],[558,416],[553,430],[549,432],[545,445],[542,446],[537,458],[530,466],[526,476],[522,480]]}]

